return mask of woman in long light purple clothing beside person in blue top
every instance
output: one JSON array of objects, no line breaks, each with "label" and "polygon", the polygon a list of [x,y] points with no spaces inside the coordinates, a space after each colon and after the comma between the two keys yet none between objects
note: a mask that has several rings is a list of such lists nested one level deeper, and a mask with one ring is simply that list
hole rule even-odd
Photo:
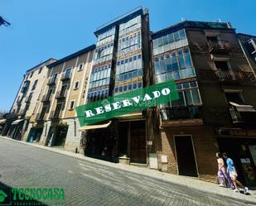
[{"label": "woman in long light purple clothing beside person in blue top", "polygon": [[229,187],[234,188],[234,185],[232,184],[232,180],[229,177],[229,174],[227,173],[226,167],[225,167],[225,161],[222,158],[220,152],[216,153],[216,158],[218,162],[218,181],[220,187]]}]

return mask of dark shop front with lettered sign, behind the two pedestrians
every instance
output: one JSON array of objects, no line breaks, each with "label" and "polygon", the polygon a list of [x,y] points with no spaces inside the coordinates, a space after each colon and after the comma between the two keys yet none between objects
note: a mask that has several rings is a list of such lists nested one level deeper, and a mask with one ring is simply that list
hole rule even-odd
[{"label": "dark shop front with lettered sign, behind the two pedestrians", "polygon": [[256,130],[219,128],[218,134],[220,152],[234,160],[238,180],[256,187]]}]

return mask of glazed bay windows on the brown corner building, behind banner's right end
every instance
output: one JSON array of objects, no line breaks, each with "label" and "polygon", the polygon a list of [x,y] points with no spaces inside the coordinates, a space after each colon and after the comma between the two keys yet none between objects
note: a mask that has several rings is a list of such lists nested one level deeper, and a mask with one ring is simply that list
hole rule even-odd
[{"label": "glazed bay windows on the brown corner building, behind banner's right end", "polygon": [[179,100],[161,105],[161,108],[200,105],[200,92],[185,30],[181,29],[154,38],[153,55],[156,83],[171,79],[179,82],[176,84]]}]

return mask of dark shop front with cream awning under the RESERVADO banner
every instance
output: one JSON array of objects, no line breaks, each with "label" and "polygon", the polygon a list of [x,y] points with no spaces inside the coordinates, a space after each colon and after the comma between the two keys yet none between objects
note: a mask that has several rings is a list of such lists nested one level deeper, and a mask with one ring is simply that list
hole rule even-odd
[{"label": "dark shop front with cream awning under the RESERVADO banner", "polygon": [[80,130],[85,131],[85,156],[124,164],[147,164],[144,120],[114,119]]}]

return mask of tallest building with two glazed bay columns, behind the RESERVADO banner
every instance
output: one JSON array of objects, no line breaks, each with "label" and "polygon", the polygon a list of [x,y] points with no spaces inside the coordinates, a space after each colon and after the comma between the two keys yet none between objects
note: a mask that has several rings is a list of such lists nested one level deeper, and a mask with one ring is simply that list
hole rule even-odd
[{"label": "tallest building with two glazed bay columns, behind the RESERVADO banner", "polygon": [[[94,32],[97,46],[87,103],[150,84],[148,12],[138,8]],[[142,111],[85,127],[87,156],[147,164],[147,117]],[[151,128],[149,128],[151,129]]]}]

